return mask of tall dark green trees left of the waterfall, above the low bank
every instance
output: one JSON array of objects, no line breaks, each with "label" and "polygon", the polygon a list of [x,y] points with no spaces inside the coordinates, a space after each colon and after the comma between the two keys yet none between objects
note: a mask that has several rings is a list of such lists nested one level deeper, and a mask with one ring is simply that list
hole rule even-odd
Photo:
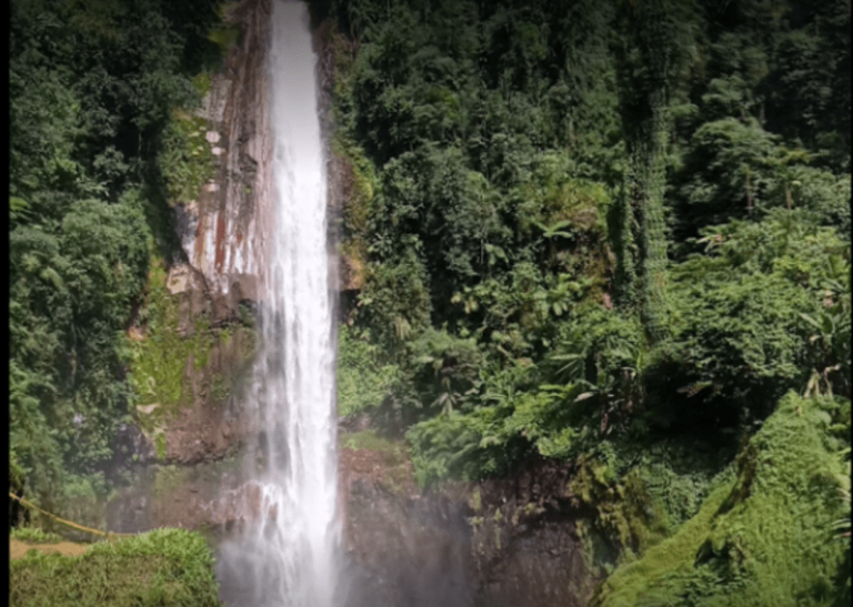
[{"label": "tall dark green trees left of the waterfall, above the low bank", "polygon": [[174,166],[158,158],[173,108],[199,100],[204,4],[10,6],[10,444],[58,514],[107,490],[132,401],[126,331],[151,255],[173,252]]}]

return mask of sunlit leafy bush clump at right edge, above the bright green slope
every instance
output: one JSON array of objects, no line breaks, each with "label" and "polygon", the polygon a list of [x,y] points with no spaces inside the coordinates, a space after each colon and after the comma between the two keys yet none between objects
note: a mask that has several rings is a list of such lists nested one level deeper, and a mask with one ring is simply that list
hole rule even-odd
[{"label": "sunlit leafy bush clump at right edge, above the bright green slope", "polygon": [[[681,382],[674,387],[691,394],[681,406],[690,407],[694,422],[710,416],[732,424],[744,413],[763,417],[782,393],[805,386],[810,367],[823,372],[849,364],[841,341],[849,325],[840,316],[849,287],[836,282],[830,295],[823,292],[823,305],[819,286],[826,284],[827,272],[844,273],[839,253],[845,244],[834,230],[805,216],[776,210],[761,223],[709,229],[700,241],[708,253],[673,267],[676,340],[668,353],[673,363],[663,368],[670,382]],[[811,318],[819,308],[839,314],[837,328],[826,325],[833,333],[823,341],[809,337],[803,316]],[[810,363],[819,350],[825,362]],[[839,381],[843,393],[844,381]]]}]

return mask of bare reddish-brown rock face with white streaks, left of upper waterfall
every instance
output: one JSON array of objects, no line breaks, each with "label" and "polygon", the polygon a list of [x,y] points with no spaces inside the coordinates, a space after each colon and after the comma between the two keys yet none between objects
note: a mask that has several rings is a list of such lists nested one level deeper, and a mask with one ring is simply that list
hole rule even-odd
[{"label": "bare reddish-brown rock face with white streaks, left of upper waterfall", "polygon": [[[269,234],[272,139],[264,51],[269,0],[244,0],[229,19],[241,43],[213,74],[198,114],[208,121],[217,173],[195,200],[180,201],[175,223],[187,263],[203,282],[214,323],[228,322],[244,301],[257,301]],[[191,314],[194,310],[191,311]]]}]

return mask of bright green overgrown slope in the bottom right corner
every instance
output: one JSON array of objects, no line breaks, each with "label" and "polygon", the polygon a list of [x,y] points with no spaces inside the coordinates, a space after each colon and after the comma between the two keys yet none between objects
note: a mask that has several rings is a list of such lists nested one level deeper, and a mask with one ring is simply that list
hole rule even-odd
[{"label": "bright green overgrown slope in the bottom right corner", "polygon": [[672,537],[606,579],[599,607],[836,605],[845,546],[836,441],[820,401],[785,396],[719,486]]}]

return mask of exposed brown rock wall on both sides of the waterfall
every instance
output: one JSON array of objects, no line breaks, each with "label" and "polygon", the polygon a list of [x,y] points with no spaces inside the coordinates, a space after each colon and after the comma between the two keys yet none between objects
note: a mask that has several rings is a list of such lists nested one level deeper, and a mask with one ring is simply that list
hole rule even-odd
[{"label": "exposed brown rock wall on both sides of the waterfall", "polygon": [[[208,344],[203,363],[192,348],[180,363],[191,396],[172,407],[145,405],[138,412],[139,424],[120,437],[138,462],[129,465],[132,483],[107,506],[111,530],[178,526],[222,538],[259,512],[259,487],[247,480],[241,455],[247,438],[262,428],[247,423],[240,375],[251,368],[255,336],[244,316],[262,305],[257,285],[273,203],[264,62],[270,13],[270,0],[245,0],[229,16],[242,34],[197,113],[207,124],[215,172],[194,199],[174,206],[183,259],[169,267],[165,291],[177,311],[175,332],[188,343],[198,338],[203,320],[214,343]],[[328,23],[315,29],[314,43],[328,143],[334,129],[335,69]],[[331,145],[327,153],[330,287],[340,292],[358,289],[347,263],[339,276],[334,247],[353,176],[348,159]],[[224,398],[213,394],[210,381],[222,375],[231,384]],[[157,417],[164,408],[171,413]],[[151,424],[145,427],[147,416],[157,417],[153,431]],[[401,490],[381,477],[382,462],[362,459],[341,452],[348,607],[461,607],[475,599],[491,606],[585,604],[590,576],[574,527],[576,513],[565,499],[554,498],[565,489],[565,479],[560,477],[561,485],[554,476],[559,473],[421,494],[411,478]]]}]

